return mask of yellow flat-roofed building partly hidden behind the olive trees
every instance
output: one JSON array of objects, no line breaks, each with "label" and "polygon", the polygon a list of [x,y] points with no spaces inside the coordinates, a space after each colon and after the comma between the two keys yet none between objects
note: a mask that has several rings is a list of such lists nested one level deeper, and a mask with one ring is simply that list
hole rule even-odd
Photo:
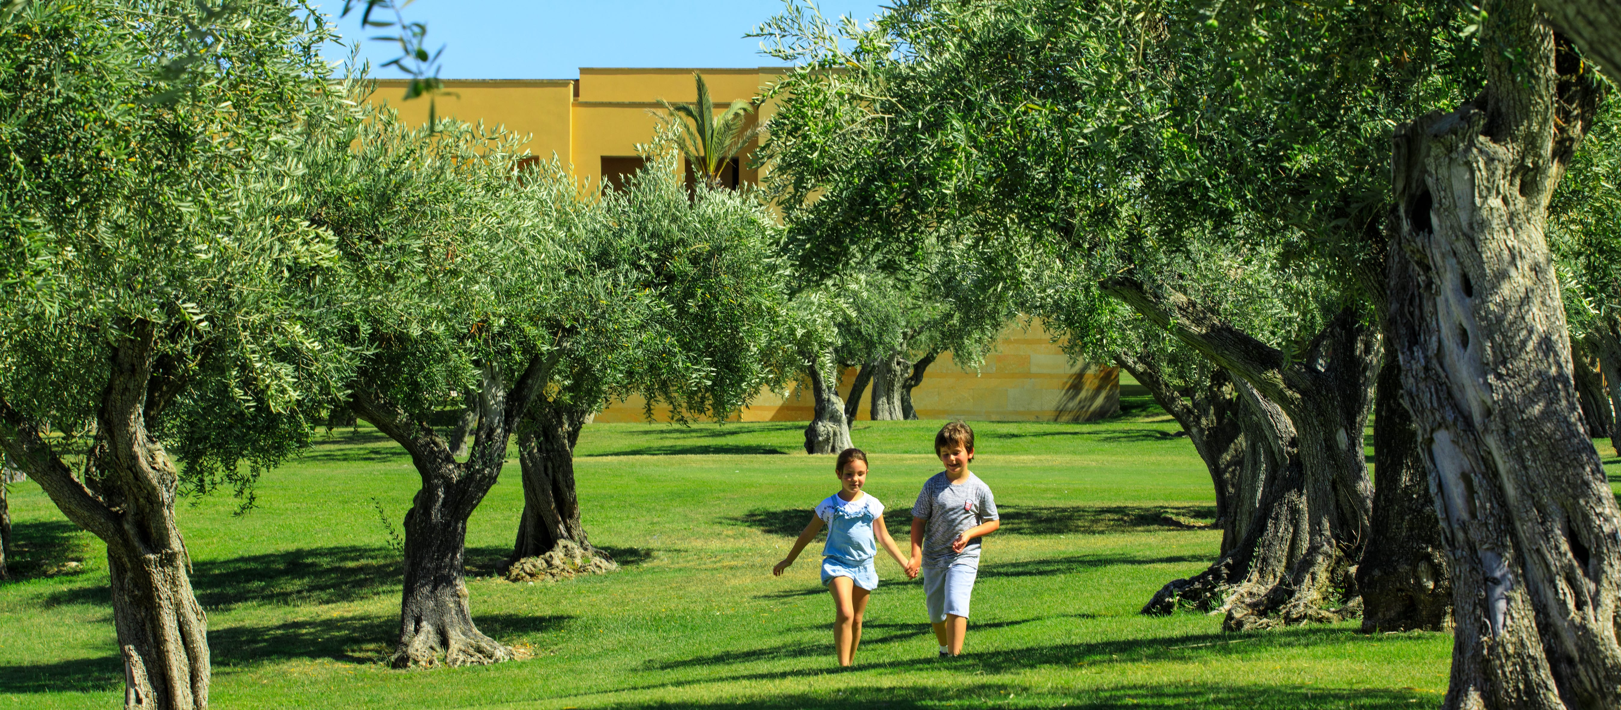
[{"label": "yellow flat-roofed building partly hidden behind the olive trees", "polygon": [[[447,79],[447,94],[436,97],[434,110],[530,136],[525,147],[538,158],[556,155],[592,184],[618,183],[642,165],[635,146],[653,137],[658,118],[652,110],[660,108],[658,99],[695,100],[694,73],[704,74],[716,110],[725,110],[733,99],[757,97],[780,71],[580,68],[579,79]],[[426,100],[397,100],[405,81],[378,84],[374,100],[394,104],[407,121],[428,120]],[[770,120],[772,112],[765,102],[751,120]],[[733,184],[755,183],[760,175],[742,160],[728,178]],[[854,370],[843,374],[841,393],[849,391],[853,378]],[[940,356],[913,390],[913,406],[922,419],[1086,421],[1114,414],[1118,398],[1118,369],[1071,366],[1039,323],[1010,325],[979,370],[958,367],[950,353]],[[809,393],[794,387],[786,395],[760,393],[739,419],[809,421],[810,414]],[[862,403],[861,419],[867,417],[869,406]],[[597,421],[642,421],[642,403],[614,403]]]}]

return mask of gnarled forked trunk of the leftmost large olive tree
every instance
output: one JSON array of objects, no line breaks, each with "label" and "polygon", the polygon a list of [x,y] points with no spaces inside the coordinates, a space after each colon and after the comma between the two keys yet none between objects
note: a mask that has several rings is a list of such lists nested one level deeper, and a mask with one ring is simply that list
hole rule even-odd
[{"label": "gnarled forked trunk of the leftmost large olive tree", "polygon": [[86,482],[73,477],[45,427],[0,401],[0,443],[75,524],[107,543],[125,707],[207,707],[207,618],[191,592],[175,526],[175,467],[146,429],[182,390],[157,327],[126,323],[110,353]]}]

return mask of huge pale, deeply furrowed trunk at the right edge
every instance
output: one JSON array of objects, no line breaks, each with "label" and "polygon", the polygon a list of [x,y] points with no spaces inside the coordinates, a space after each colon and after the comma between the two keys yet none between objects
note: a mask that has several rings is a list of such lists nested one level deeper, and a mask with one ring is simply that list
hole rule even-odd
[{"label": "huge pale, deeply furrowed trunk at the right edge", "polygon": [[1514,52],[1483,52],[1480,105],[1392,139],[1392,344],[1454,571],[1444,707],[1615,708],[1621,511],[1577,421],[1543,238],[1592,73],[1555,61],[1529,2],[1485,10],[1482,44]]}]

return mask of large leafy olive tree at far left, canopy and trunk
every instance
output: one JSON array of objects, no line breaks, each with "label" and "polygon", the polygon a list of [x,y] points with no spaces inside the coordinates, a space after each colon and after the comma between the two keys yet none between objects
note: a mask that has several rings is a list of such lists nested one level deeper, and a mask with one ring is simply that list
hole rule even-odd
[{"label": "large leafy olive tree at far left, canopy and trunk", "polygon": [[284,459],[344,378],[302,317],[337,252],[292,188],[327,39],[285,2],[0,24],[0,445],[107,543],[128,707],[207,705],[182,482]]}]

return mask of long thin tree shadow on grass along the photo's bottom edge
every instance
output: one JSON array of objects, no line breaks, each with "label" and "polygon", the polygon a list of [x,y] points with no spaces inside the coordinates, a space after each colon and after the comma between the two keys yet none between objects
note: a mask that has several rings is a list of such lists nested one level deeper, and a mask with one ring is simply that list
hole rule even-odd
[{"label": "long thin tree shadow on grass along the photo's bottom edge", "polygon": [[[859,666],[858,666],[859,670]],[[836,673],[836,671],[830,671]],[[858,671],[859,673],[859,671]],[[1044,702],[1050,700],[1050,702]],[[981,681],[968,687],[930,687],[930,686],[840,686],[825,692],[772,694],[715,702],[668,702],[648,700],[642,704],[616,702],[614,707],[629,710],[652,708],[691,708],[691,710],[733,710],[733,708],[806,708],[806,710],[843,710],[843,708],[885,708],[885,710],[922,710],[939,707],[1065,707],[1078,710],[1104,710],[1123,707],[1196,707],[1196,708],[1357,708],[1357,710],[1394,710],[1412,708],[1415,702],[1435,702],[1435,695],[1412,691],[1388,689],[1313,689],[1310,686],[1250,686],[1250,684],[1157,684],[1157,686],[1112,686],[1099,689],[1065,689],[1062,694],[1047,694],[1020,683]]]}]

